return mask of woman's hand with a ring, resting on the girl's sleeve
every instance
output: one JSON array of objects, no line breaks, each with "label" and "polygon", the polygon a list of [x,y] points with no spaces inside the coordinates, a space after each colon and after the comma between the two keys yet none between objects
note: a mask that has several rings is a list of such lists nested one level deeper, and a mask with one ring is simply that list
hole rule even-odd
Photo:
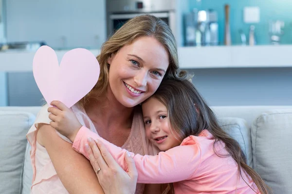
[{"label": "woman's hand with a ring, resting on the girl's sleeve", "polygon": [[100,141],[89,138],[88,142],[90,146],[88,144],[85,146],[90,162],[105,194],[134,194],[138,172],[129,153],[125,154],[128,165],[128,172],[125,172]]}]

